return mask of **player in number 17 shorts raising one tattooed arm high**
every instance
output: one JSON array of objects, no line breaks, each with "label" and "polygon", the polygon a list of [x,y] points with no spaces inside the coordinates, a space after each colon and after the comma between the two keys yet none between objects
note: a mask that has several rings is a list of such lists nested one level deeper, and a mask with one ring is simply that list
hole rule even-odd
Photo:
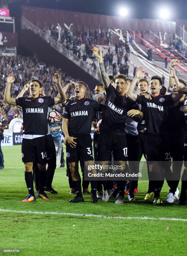
[{"label": "player in number 17 shorts raising one tattooed arm high", "polygon": [[[106,100],[102,119],[101,132],[98,140],[97,159],[101,165],[107,165],[111,152],[113,151],[114,161],[125,167],[128,159],[127,141],[125,137],[125,121],[128,118],[127,112],[133,109],[134,103],[125,97],[127,87],[127,77],[118,74],[114,78],[115,88],[111,85],[110,79],[106,74],[101,48],[94,47],[93,53],[98,59],[99,70],[106,91]],[[139,111],[140,114],[141,111]],[[103,170],[106,172],[107,170]],[[125,168],[124,168],[125,172]],[[103,201],[109,200],[107,183],[104,185]],[[125,180],[118,181],[119,198],[116,204],[124,203]]]}]

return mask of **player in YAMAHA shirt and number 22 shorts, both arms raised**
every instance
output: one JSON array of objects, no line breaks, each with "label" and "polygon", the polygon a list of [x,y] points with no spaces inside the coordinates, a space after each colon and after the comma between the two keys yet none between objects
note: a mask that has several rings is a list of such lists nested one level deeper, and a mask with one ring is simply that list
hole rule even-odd
[{"label": "player in YAMAHA shirt and number 22 shorts, both arms raised", "polygon": [[[174,70],[170,67],[171,76],[174,77],[177,89],[180,88],[178,78]],[[146,160],[149,164],[150,180],[152,181],[153,192],[155,193],[153,204],[160,204],[160,191],[164,183],[164,177],[172,180],[173,175],[169,166],[169,136],[168,136],[168,113],[170,106],[178,101],[183,94],[160,95],[162,80],[159,76],[152,76],[150,81],[151,95],[149,98],[137,95],[134,89],[137,81],[144,75],[143,67],[140,66],[136,71],[133,82],[127,89],[128,97],[141,104],[144,108],[145,128],[144,128],[144,146]],[[163,161],[163,162],[161,162]],[[161,177],[161,178],[160,178]],[[162,179],[162,180],[160,180]],[[170,192],[175,193],[176,187],[174,181],[171,182]]]}]

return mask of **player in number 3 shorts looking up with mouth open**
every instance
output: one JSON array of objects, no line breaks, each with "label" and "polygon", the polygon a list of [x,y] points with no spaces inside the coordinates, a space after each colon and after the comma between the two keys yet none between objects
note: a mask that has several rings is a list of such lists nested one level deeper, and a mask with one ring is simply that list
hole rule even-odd
[{"label": "player in number 3 shorts looking up with mouth open", "polygon": [[[70,164],[72,181],[76,191],[76,196],[71,199],[71,203],[83,202],[81,192],[81,177],[79,174],[79,156],[82,161],[87,161],[88,165],[93,165],[92,139],[90,136],[92,126],[93,111],[102,111],[103,105],[98,102],[87,99],[87,86],[79,81],[75,86],[75,100],[63,102],[65,110],[63,113],[62,130],[66,137],[66,156]],[[68,126],[67,126],[68,124]],[[93,170],[96,174],[96,170]],[[91,201],[96,203],[97,182],[91,182]]]}]

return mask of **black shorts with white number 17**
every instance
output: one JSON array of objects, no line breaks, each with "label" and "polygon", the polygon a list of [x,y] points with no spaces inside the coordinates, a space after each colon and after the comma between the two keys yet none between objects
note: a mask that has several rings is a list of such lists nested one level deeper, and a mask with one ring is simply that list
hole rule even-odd
[{"label": "black shorts with white number 17", "polygon": [[114,161],[127,161],[127,140],[125,135],[101,131],[98,140],[97,160],[109,161],[113,151]]}]

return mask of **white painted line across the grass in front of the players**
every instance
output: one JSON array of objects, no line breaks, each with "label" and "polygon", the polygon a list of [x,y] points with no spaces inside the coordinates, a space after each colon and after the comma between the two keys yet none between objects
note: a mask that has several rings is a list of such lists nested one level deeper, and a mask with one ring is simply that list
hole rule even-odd
[{"label": "white painted line across the grass in front of the players", "polygon": [[187,219],[179,218],[154,218],[154,217],[123,217],[123,216],[104,216],[96,214],[79,214],[79,213],[68,213],[68,212],[48,212],[48,211],[17,211],[17,210],[6,210],[0,209],[2,212],[16,212],[16,213],[32,213],[32,214],[52,214],[52,215],[68,215],[68,216],[80,216],[80,217],[95,217],[95,218],[105,218],[105,219],[135,219],[135,220],[172,220],[172,221],[187,221]]}]

